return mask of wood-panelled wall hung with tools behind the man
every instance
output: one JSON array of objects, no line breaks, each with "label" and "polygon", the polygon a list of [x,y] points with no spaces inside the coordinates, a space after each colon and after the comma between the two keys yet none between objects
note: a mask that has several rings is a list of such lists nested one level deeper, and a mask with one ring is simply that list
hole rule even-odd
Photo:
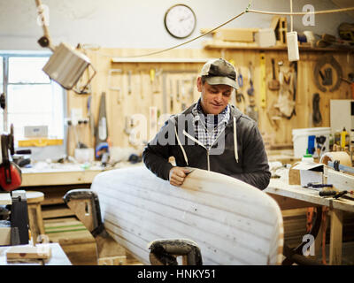
[{"label": "wood-panelled wall hung with tools behind the man", "polygon": [[[128,57],[139,54],[146,54],[155,50],[130,50],[130,49],[100,49],[85,50],[91,58],[92,64],[96,68],[96,77],[92,81],[92,111],[95,117],[95,123],[98,117],[98,108],[100,97],[103,92],[106,94],[106,111],[108,119],[108,132],[113,147],[133,147],[129,143],[128,134],[125,134],[124,128],[126,119],[135,113],[141,113],[148,118],[150,125],[150,107],[156,106],[158,115],[163,114],[165,109],[167,113],[177,113],[181,111],[182,103],[186,107],[196,102],[199,93],[196,90],[196,76],[200,72],[204,63],[142,63],[141,58],[136,57],[132,63],[112,63],[112,57]],[[276,76],[279,79],[278,65],[283,61],[284,65],[289,65],[287,50],[241,50],[241,49],[204,49],[204,50],[170,50],[163,54],[153,55],[154,58],[209,58],[225,57],[227,60],[235,62],[236,69],[240,68],[243,76],[243,87],[240,89],[245,96],[245,103],[236,103],[240,109],[244,109],[250,103],[250,96],[247,95],[249,84],[249,64],[254,67],[253,80],[255,102],[258,109],[258,126],[264,134],[265,140],[270,142],[273,147],[289,147],[292,145],[292,129],[312,126],[329,126],[329,101],[330,99],[350,99],[350,86],[342,82],[341,86],[335,92],[321,92],[316,87],[313,80],[313,69],[316,61],[320,57],[333,55],[342,66],[342,73],[345,77],[348,73],[354,72],[353,54],[342,51],[300,51],[300,61],[298,61],[297,71],[297,89],[296,89],[296,115],[291,119],[281,117],[277,120],[269,119],[274,116],[273,104],[278,100],[279,92],[269,90],[266,87],[266,107],[260,103],[261,89],[261,71],[260,54],[265,52],[266,57],[266,85],[268,80],[273,77],[271,59],[275,59]],[[144,57],[149,58],[149,57]],[[119,69],[121,73],[112,73],[109,80],[109,71]],[[156,75],[153,82],[150,80],[150,70],[155,70]],[[129,79],[130,73],[130,79]],[[163,80],[163,75],[165,80]],[[193,91],[190,92],[193,79]],[[333,78],[336,80],[335,76]],[[184,85],[182,93],[181,81]],[[130,83],[129,83],[130,81]],[[177,101],[177,83],[180,82],[180,101]],[[171,88],[172,84],[172,88]],[[111,89],[120,88],[120,91]],[[173,109],[171,107],[171,89],[173,95]],[[312,95],[319,93],[320,112],[322,122],[319,125],[312,125]],[[165,100],[164,100],[165,96]],[[81,108],[84,117],[88,115],[89,95],[76,95],[73,91],[68,92],[68,115],[73,108]],[[164,103],[165,102],[165,103]],[[232,100],[235,103],[235,97]],[[153,109],[152,109],[153,110]],[[268,115],[267,115],[268,113]],[[271,113],[269,115],[269,113]],[[159,127],[160,125],[158,125]],[[89,126],[81,126],[81,140],[89,147],[94,146],[94,139],[90,133]],[[149,140],[150,134],[147,138]],[[68,150],[73,155],[74,138],[73,131],[69,131]],[[142,146],[135,146],[135,149],[142,149]]]}]

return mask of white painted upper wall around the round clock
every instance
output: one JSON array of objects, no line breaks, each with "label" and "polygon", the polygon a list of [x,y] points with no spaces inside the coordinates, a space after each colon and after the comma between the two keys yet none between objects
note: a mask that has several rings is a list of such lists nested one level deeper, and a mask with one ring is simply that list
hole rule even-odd
[{"label": "white painted upper wall around the round clock", "polygon": [[[200,34],[201,28],[217,27],[244,11],[248,0],[184,0],[196,13],[196,29],[188,39]],[[173,38],[164,26],[165,11],[174,0],[42,0],[49,7],[49,29],[53,43],[98,44],[110,48],[166,48],[183,40]],[[293,2],[294,11],[302,11],[308,1]],[[315,11],[338,8],[331,1],[313,0]],[[250,9],[289,11],[289,1],[252,1]],[[272,15],[247,13],[226,27],[269,27]],[[48,19],[47,19],[48,20]],[[315,26],[305,27],[302,16],[294,17],[294,30],[315,34],[337,34],[338,25],[352,22],[347,13],[318,15]],[[288,17],[290,23],[290,18]],[[42,50],[37,40],[42,27],[37,25],[35,0],[0,0],[0,50]],[[202,48],[200,39],[184,48]]]}]

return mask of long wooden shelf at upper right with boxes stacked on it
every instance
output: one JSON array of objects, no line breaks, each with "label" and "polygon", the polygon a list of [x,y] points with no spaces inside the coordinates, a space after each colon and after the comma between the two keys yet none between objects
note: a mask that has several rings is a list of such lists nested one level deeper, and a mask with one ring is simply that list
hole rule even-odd
[{"label": "long wooden shelf at upper right with boxes stacked on it", "polygon": [[[231,50],[288,50],[287,46],[259,47],[257,43],[242,43],[242,42],[221,42],[221,41],[206,41],[204,49],[231,49]],[[314,52],[353,52],[354,49],[335,49],[335,48],[319,48],[310,46],[299,46],[299,51],[314,51]]]}]

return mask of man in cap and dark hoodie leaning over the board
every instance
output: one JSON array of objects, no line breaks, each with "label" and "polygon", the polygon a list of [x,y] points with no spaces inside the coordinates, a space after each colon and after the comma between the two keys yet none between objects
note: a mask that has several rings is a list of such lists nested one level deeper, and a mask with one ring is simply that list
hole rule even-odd
[{"label": "man in cap and dark hoodie leaning over the board", "polygon": [[222,58],[208,61],[196,87],[201,93],[198,102],[166,121],[143,150],[144,164],[173,186],[181,186],[189,172],[186,167],[195,167],[265,189],[271,173],[258,126],[228,104],[237,89],[234,66]]}]

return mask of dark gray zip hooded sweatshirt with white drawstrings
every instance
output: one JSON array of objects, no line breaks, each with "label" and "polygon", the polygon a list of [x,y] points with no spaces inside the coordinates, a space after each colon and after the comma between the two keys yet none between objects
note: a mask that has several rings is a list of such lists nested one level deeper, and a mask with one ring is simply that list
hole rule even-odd
[{"label": "dark gray zip hooded sweatshirt with white drawstrings", "polygon": [[219,172],[265,189],[271,178],[266,149],[256,122],[230,105],[228,124],[211,149],[206,149],[194,135],[191,105],[173,115],[142,152],[142,160],[151,172],[169,179],[175,158],[177,166]]}]

